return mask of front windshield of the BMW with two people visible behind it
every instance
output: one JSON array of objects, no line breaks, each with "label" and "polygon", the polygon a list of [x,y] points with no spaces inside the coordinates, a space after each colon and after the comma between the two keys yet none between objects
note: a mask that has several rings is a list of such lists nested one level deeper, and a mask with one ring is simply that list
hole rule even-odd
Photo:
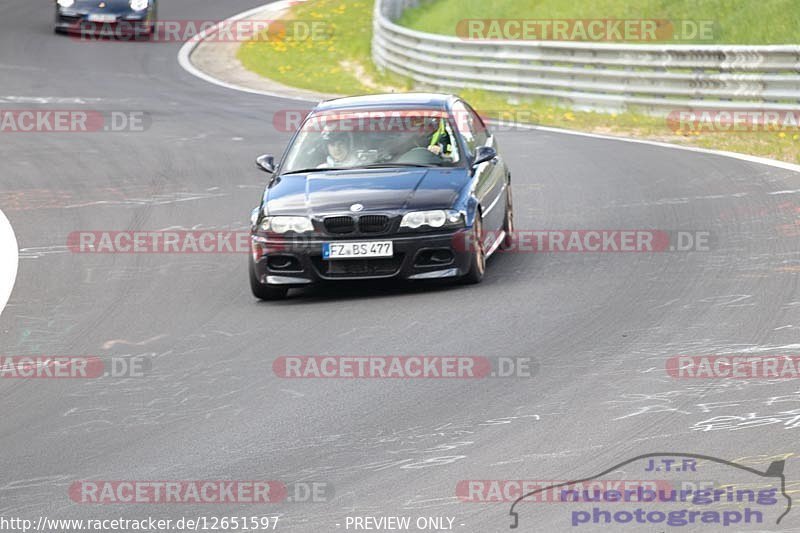
[{"label": "front windshield of the BMW with two people visible behind it", "polygon": [[374,166],[453,167],[458,143],[444,111],[349,111],[310,116],[283,173]]}]

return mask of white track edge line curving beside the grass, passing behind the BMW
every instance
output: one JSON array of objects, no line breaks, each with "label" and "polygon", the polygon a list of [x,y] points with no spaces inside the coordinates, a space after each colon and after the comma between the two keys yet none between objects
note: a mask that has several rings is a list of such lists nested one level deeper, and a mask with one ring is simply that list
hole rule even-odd
[{"label": "white track edge line curving beside the grass, passing behind the BMW", "polygon": [[[293,3],[295,3],[295,2],[292,1],[292,0],[281,0],[280,2],[273,2],[273,3],[270,3],[270,4],[265,4],[265,5],[261,6],[261,7],[250,9],[248,11],[245,11],[244,13],[239,13],[238,15],[234,15],[233,17],[221,22],[217,26],[221,26],[221,25],[223,25],[225,23],[228,23],[228,22],[231,22],[231,21],[245,19],[247,17],[255,15],[256,13],[258,13],[260,11],[264,11],[264,10],[266,10],[268,8],[269,9],[273,9],[274,8],[276,11],[279,11],[279,10],[285,9],[286,7],[289,7]],[[225,87],[227,89],[233,89],[234,91],[242,91],[242,92],[246,92],[246,93],[250,93],[250,94],[260,94],[260,95],[263,95],[263,96],[272,96],[272,97],[283,98],[283,99],[287,99],[287,100],[298,100],[298,101],[302,101],[302,102],[317,102],[318,101],[318,100],[310,100],[310,99],[307,99],[307,98],[301,98],[301,97],[297,97],[297,96],[291,96],[291,95],[287,95],[287,94],[281,94],[280,92],[277,92],[277,91],[276,92],[259,91],[257,89],[250,89],[250,88],[247,88],[247,87],[242,87],[240,85],[235,85],[233,83],[228,83],[226,81],[220,80],[220,79],[215,78],[213,76],[209,76],[205,72],[202,72],[201,70],[199,70],[197,67],[195,67],[192,64],[192,61],[190,59],[190,57],[192,55],[192,52],[197,47],[197,45],[199,45],[200,42],[203,39],[206,38],[206,36],[209,33],[213,32],[213,31],[216,31],[216,28],[217,27],[215,26],[214,28],[211,28],[208,31],[204,31],[204,32],[200,33],[195,38],[193,38],[191,41],[189,41],[188,43],[185,43],[181,47],[180,52],[178,52],[178,63],[180,63],[181,67],[183,67],[184,70],[186,70],[187,72],[189,72],[193,76],[197,76],[198,78],[200,78],[202,80],[205,80],[205,81],[207,81],[209,83],[213,83],[214,85],[219,85],[220,87]],[[506,122],[504,124],[508,125],[509,123]],[[782,168],[784,170],[791,170],[793,172],[800,173],[800,165],[794,165],[792,163],[786,163],[784,161],[776,161],[774,159],[767,159],[765,157],[757,157],[757,156],[752,156],[752,155],[747,155],[747,154],[740,154],[740,153],[736,153],[736,152],[725,152],[725,151],[722,151],[722,150],[710,150],[708,148],[696,148],[694,146],[681,146],[681,145],[678,145],[678,144],[669,144],[669,143],[659,142],[659,141],[648,141],[646,139],[630,139],[628,137],[616,137],[616,136],[613,136],[613,135],[602,135],[602,134],[599,134],[599,133],[587,133],[587,132],[582,132],[582,131],[563,130],[563,129],[560,129],[560,128],[551,128],[551,127],[546,127],[546,126],[535,126],[535,125],[531,125],[531,124],[519,124],[519,123],[511,123],[511,124],[516,126],[516,127],[522,128],[522,129],[530,129],[530,130],[534,130],[534,131],[538,130],[538,131],[546,131],[546,132],[550,132],[550,133],[559,133],[559,134],[563,134],[563,135],[578,135],[578,136],[581,136],[581,137],[589,137],[589,138],[592,138],[592,139],[604,139],[604,140],[609,140],[609,141],[618,141],[618,142],[627,142],[627,143],[636,143],[636,144],[646,144],[646,145],[650,145],[650,146],[657,146],[659,148],[669,148],[669,149],[672,149],[672,150],[684,150],[684,151],[687,151],[687,152],[695,152],[695,153],[700,153],[700,154],[710,154],[710,155],[718,155],[718,156],[722,156],[722,157],[730,157],[730,158],[733,158],[733,159],[740,159],[742,161],[748,161],[750,163],[757,163],[757,164],[760,164],[760,165],[767,165],[767,166],[771,166],[771,167]]]}]

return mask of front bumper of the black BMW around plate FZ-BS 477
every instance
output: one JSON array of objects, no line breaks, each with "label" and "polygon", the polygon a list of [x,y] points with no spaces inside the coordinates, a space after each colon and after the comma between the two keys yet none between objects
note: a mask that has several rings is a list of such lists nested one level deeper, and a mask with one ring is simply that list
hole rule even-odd
[{"label": "front bumper of the black BMW around plate FZ-BS 477", "polygon": [[[255,274],[261,283],[302,287],[313,283],[370,279],[443,279],[469,272],[466,249],[469,230],[435,234],[402,234],[373,238],[282,240],[255,233],[251,236]],[[322,258],[326,242],[392,241],[394,256],[381,259]],[[278,267],[278,268],[276,268]]]}]

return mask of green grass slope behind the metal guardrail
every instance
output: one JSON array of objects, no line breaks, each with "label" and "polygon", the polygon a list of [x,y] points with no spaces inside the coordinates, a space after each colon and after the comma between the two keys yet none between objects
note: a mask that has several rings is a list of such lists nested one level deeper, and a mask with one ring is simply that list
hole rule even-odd
[{"label": "green grass slope behind the metal guardrail", "polygon": [[456,35],[460,20],[487,18],[713,21],[711,39],[681,42],[800,43],[798,0],[492,0],[491,9],[487,0],[424,0],[399,22],[420,31]]}]

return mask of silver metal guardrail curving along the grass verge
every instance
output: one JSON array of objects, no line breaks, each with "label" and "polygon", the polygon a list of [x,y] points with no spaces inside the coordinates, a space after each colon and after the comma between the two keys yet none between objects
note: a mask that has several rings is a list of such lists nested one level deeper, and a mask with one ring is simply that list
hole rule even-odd
[{"label": "silver metal guardrail curving along the grass verge", "polygon": [[467,40],[395,24],[418,1],[376,0],[372,55],[421,86],[554,97],[601,111],[800,111],[800,45]]}]

